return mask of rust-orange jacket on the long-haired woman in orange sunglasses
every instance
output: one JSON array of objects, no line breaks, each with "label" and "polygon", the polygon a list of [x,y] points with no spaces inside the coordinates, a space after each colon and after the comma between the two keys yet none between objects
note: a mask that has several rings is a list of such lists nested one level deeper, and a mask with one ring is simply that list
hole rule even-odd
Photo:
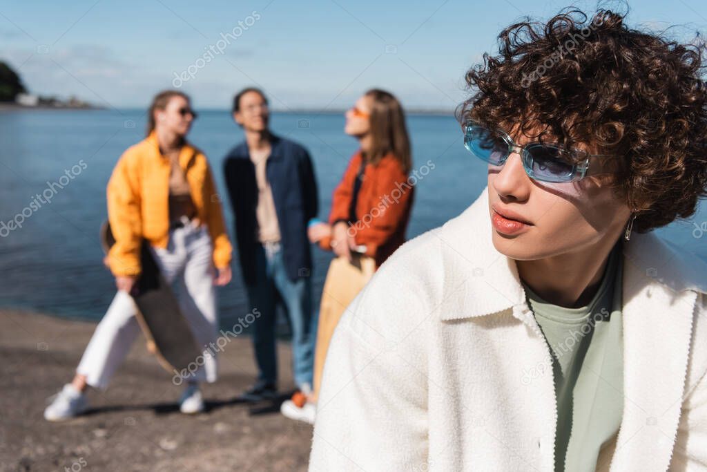
[{"label": "rust-orange jacket on the long-haired woman in orange sunglasses", "polygon": [[[361,161],[361,151],[358,151],[334,189],[329,224],[349,221],[349,206]],[[375,258],[376,267],[405,242],[413,194],[414,186],[410,185],[407,174],[392,154],[375,166],[366,166],[356,200],[358,221],[351,224],[349,233],[354,235],[356,244],[366,246],[366,255]],[[320,246],[330,251],[331,238],[322,238]]]}]

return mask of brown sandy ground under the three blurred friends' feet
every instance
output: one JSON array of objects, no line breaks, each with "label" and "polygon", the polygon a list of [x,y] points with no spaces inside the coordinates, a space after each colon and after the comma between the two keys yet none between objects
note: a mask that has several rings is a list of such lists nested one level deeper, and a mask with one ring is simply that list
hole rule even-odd
[{"label": "brown sandy ground under the three blurred friends' feet", "polygon": [[[255,377],[247,338],[232,340],[221,353],[221,378],[204,387],[206,413],[179,413],[181,388],[139,338],[107,391],[89,392],[86,415],[45,422],[45,398],[71,379],[94,328],[83,321],[0,311],[1,470],[306,470],[309,425],[280,415],[279,402],[247,405],[234,399]],[[292,388],[284,343],[279,360],[280,386]]]}]

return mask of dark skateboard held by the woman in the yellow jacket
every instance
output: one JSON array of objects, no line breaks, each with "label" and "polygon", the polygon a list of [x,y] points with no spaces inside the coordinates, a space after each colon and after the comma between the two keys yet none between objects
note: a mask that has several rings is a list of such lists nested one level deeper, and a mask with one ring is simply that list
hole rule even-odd
[{"label": "dark skateboard held by the woman in the yellow jacket", "polygon": [[[108,221],[100,228],[100,241],[106,254],[115,244]],[[147,339],[147,349],[170,374],[182,372],[189,364],[197,362],[203,352],[145,240],[140,262],[142,271],[130,296],[137,306],[136,318]]]}]

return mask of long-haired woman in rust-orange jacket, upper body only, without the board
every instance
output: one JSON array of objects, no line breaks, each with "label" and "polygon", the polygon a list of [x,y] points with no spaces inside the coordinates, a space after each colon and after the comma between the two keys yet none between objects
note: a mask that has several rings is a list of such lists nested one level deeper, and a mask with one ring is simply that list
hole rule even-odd
[{"label": "long-haired woman in rust-orange jacket, upper body only, without the board", "polygon": [[346,112],[344,132],[361,149],[334,190],[329,223],[310,226],[310,239],[351,259],[351,251],[380,266],[405,241],[412,207],[412,166],[405,117],[392,94],[373,89]]}]

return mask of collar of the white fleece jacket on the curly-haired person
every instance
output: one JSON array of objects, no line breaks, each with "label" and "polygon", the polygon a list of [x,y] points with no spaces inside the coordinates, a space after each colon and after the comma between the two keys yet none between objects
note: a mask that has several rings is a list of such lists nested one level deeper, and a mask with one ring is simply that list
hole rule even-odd
[{"label": "collar of the white fleece jacket on the curly-haired person", "polygon": [[[513,309],[523,318],[530,309],[515,260],[496,251],[491,240],[489,188],[460,216],[434,230],[441,241],[445,281],[443,320],[484,316]],[[636,267],[632,285],[668,292],[707,293],[707,264],[682,253],[653,233],[633,234],[624,241],[624,265]],[[624,280],[626,275],[624,275]]]}]

